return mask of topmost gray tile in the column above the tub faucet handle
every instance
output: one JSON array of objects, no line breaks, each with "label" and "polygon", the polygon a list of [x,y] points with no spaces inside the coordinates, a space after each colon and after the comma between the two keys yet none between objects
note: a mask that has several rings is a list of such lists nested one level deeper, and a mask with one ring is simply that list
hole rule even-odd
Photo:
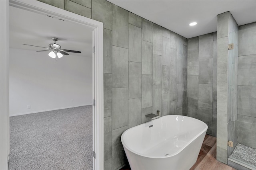
[{"label": "topmost gray tile in the column above the tub faucet handle", "polygon": [[162,27],[153,23],[153,54],[162,55]]}]

